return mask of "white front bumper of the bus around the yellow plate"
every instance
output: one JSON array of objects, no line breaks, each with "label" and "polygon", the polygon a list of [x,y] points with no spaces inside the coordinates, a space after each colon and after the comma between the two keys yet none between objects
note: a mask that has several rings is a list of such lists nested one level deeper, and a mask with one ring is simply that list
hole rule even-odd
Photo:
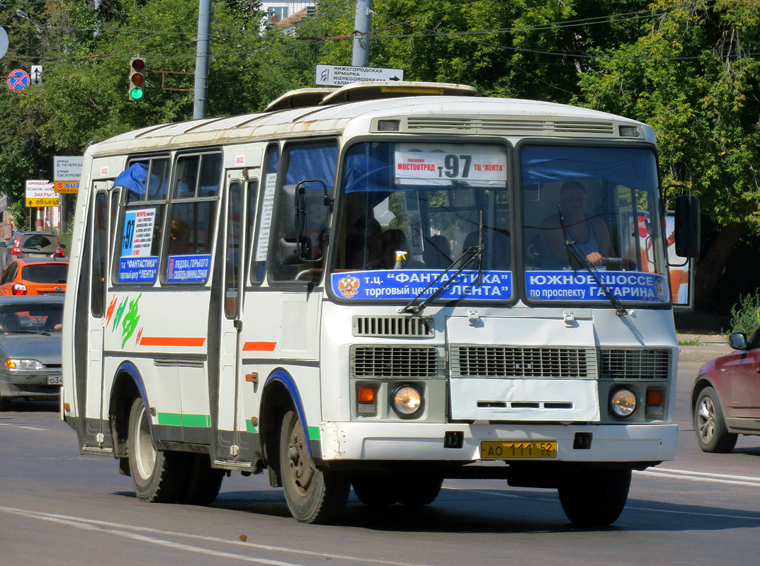
[{"label": "white front bumper of the bus around the yellow plate", "polygon": [[[635,463],[676,458],[678,425],[323,423],[320,432],[325,462],[466,463],[480,460],[483,440],[556,440],[557,458],[550,461]],[[445,448],[446,432],[461,433],[461,448]],[[587,448],[574,448],[577,433],[591,435]]]}]

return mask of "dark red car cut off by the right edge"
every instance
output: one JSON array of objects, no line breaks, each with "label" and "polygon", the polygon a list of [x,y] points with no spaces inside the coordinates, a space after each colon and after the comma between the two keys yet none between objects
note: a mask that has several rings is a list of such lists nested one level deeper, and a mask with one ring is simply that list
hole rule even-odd
[{"label": "dark red car cut off by the right edge", "polygon": [[730,452],[739,434],[760,435],[760,326],[747,339],[734,333],[735,350],[701,366],[692,388],[692,421],[705,452]]}]

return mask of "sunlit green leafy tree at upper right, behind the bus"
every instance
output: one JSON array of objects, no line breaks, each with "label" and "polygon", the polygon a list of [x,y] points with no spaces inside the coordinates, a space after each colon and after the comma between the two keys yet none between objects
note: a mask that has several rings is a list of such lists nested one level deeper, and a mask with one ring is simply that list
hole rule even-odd
[{"label": "sunlit green leafy tree at upper right, behind the bus", "polygon": [[578,101],[651,124],[663,183],[690,187],[717,223],[699,263],[702,300],[739,238],[760,228],[760,4],[658,0],[652,14],[638,39],[598,52]]}]

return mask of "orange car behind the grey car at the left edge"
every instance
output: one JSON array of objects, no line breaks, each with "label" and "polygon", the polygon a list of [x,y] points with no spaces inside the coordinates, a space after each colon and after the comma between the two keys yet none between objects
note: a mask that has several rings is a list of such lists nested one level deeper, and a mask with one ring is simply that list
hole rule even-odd
[{"label": "orange car behind the grey car at the left edge", "polygon": [[14,259],[0,278],[0,295],[63,295],[68,261]]}]

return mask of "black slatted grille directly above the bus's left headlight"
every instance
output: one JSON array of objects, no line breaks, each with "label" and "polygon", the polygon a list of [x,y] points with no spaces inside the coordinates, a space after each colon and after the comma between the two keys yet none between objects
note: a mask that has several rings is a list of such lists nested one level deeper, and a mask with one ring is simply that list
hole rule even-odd
[{"label": "black slatted grille directly above the bus's left headlight", "polygon": [[360,378],[426,378],[444,375],[435,346],[353,346],[351,375]]}]

